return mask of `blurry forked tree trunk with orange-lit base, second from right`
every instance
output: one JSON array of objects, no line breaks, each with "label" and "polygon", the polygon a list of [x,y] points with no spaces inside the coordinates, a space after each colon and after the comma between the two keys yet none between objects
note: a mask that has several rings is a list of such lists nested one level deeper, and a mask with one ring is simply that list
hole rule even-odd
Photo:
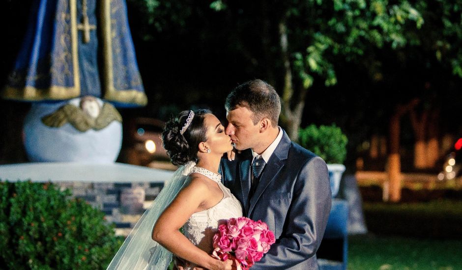
[{"label": "blurry forked tree trunk with orange-lit base, second from right", "polygon": [[428,111],[425,110],[419,118],[417,113],[412,110],[410,119],[415,136],[414,167],[417,169],[425,169],[428,168],[427,141],[425,139],[428,123]]}]

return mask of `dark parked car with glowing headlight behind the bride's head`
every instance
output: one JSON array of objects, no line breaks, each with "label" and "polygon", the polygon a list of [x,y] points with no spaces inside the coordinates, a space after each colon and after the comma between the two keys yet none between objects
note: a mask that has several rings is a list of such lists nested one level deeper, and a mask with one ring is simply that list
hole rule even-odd
[{"label": "dark parked car with glowing headlight behind the bride's head", "polygon": [[162,146],[161,138],[164,126],[165,123],[158,119],[134,118],[128,127],[127,162],[147,166],[154,160],[168,161],[169,157]]}]

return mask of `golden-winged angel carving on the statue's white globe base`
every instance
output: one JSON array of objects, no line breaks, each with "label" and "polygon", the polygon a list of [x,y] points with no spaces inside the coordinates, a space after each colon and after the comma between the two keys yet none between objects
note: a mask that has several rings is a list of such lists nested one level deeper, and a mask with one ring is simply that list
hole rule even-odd
[{"label": "golden-winged angel carving on the statue's white globe base", "polygon": [[117,109],[109,103],[100,106],[98,100],[92,96],[82,97],[79,107],[68,103],[42,117],[42,123],[46,126],[59,128],[69,123],[80,132],[89,129],[102,130],[113,121],[122,122],[122,116]]}]

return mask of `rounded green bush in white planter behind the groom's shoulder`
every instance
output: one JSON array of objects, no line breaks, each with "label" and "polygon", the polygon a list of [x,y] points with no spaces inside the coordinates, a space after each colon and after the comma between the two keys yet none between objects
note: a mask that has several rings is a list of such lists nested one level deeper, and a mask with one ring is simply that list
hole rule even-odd
[{"label": "rounded green bush in white planter behind the groom's shoulder", "polygon": [[321,157],[326,163],[343,164],[348,139],[335,126],[310,125],[298,131],[300,145]]}]

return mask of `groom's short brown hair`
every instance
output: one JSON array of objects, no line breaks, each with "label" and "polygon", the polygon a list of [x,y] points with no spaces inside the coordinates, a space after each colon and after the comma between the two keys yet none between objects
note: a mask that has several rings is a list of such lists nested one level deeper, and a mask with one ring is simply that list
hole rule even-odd
[{"label": "groom's short brown hair", "polygon": [[281,100],[274,87],[265,81],[247,81],[232,89],[226,98],[225,108],[231,111],[237,107],[245,107],[253,112],[254,125],[263,117],[267,117],[273,127],[278,125]]}]

